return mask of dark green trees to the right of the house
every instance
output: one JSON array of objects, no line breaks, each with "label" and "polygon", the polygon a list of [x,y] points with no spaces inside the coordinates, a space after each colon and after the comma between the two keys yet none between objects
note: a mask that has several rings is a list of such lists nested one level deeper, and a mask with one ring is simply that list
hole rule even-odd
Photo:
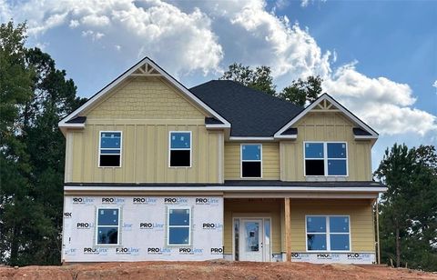
[{"label": "dark green trees to the right of the house", "polygon": [[432,145],[387,149],[375,177],[381,196],[381,257],[396,266],[437,271],[437,154]]}]

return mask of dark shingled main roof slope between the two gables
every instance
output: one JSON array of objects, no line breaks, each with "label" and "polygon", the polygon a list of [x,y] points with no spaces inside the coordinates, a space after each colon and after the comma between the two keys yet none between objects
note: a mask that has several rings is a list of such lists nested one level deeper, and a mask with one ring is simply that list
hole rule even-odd
[{"label": "dark shingled main roof slope between the two gables", "polygon": [[212,80],[189,91],[229,121],[231,136],[273,136],[303,110],[234,81]]}]

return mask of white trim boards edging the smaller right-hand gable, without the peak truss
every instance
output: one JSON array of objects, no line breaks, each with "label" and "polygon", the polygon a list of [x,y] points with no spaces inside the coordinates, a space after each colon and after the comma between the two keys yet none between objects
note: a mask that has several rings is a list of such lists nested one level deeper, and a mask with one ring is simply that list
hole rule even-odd
[{"label": "white trim boards edging the smaller right-hand gable, without the peak truss", "polygon": [[[319,105],[320,102],[323,100],[327,100],[330,102],[330,104],[335,105],[337,108],[339,108],[340,112],[344,115],[347,115],[353,122],[355,122],[357,125],[360,125],[361,128],[363,128],[366,132],[370,133],[371,135],[366,135],[365,137],[355,136],[357,139],[377,139],[378,133],[375,132],[373,129],[371,129],[371,126],[366,125],[364,122],[361,121],[357,116],[353,115],[348,109],[346,109],[344,106],[340,105],[334,98],[332,98],[328,94],[320,95],[319,98],[317,98],[313,103],[311,103],[308,107],[306,107],[303,111],[300,112],[299,115],[296,115],[292,120],[290,120],[287,125],[282,126],[282,128],[279,129],[278,132],[275,133],[275,138],[289,138],[288,135],[282,135],[284,131],[289,129],[292,125],[296,124],[304,115],[307,115],[316,105]],[[294,139],[295,137],[290,137]]]}]

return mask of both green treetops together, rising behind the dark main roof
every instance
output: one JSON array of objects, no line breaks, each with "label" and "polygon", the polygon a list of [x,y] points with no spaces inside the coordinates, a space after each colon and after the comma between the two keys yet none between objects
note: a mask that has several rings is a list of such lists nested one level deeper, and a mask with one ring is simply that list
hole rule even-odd
[{"label": "both green treetops together, rising behind the dark main roof", "polygon": [[249,66],[236,63],[229,65],[228,71],[220,79],[239,82],[241,85],[258,89],[268,95],[277,96],[300,106],[304,106],[307,102],[311,103],[317,99],[322,92],[321,83],[323,82],[319,75],[310,75],[306,80],[293,80],[290,86],[277,93],[269,66],[259,66],[252,69]]}]

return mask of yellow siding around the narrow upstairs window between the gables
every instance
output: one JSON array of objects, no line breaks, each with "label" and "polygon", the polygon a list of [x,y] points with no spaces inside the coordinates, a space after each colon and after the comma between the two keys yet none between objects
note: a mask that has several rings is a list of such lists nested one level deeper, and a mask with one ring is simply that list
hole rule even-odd
[{"label": "yellow siding around the narrow upstairs window between the gables", "polygon": [[[246,143],[225,143],[225,180],[241,179],[241,144]],[[279,143],[264,142],[259,144],[262,144],[261,179],[279,180]]]}]

